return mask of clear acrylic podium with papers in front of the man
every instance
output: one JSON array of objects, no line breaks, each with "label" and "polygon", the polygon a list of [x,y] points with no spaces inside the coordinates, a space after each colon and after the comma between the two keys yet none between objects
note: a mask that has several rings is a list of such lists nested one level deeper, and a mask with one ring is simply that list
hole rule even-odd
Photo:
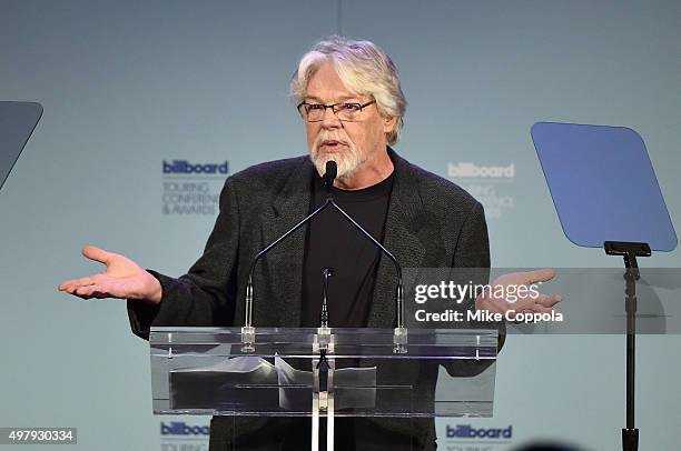
[{"label": "clear acrylic podium with papers in front of the man", "polygon": [[[334,418],[492,417],[497,330],[152,328],[157,414],[309,417],[312,449]],[[248,349],[250,348],[250,349]]]}]

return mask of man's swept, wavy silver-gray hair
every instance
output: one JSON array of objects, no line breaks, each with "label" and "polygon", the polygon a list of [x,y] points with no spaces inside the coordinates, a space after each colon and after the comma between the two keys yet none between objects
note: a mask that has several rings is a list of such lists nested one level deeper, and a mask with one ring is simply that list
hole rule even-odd
[{"label": "man's swept, wavy silver-gray hair", "polygon": [[305,99],[307,83],[325,63],[332,63],[343,83],[356,94],[372,96],[378,112],[397,118],[395,128],[386,133],[388,144],[399,140],[406,99],[399,87],[397,67],[378,46],[369,41],[354,41],[340,36],[317,42],[300,58],[290,80],[290,96],[297,103]]}]

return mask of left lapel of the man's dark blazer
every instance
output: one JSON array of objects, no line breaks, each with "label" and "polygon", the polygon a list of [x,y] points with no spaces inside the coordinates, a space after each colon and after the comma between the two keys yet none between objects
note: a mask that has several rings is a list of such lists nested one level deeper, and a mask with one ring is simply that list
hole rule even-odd
[{"label": "left lapel of the man's dark blazer", "polygon": [[[275,199],[272,210],[261,221],[263,243],[269,245],[308,214],[314,166],[309,159],[292,172]],[[277,310],[280,327],[299,327],[302,309],[303,259],[307,227],[286,238],[272,249],[263,261],[263,281],[274,299],[269,308]],[[272,317],[272,315],[268,315]]]}]

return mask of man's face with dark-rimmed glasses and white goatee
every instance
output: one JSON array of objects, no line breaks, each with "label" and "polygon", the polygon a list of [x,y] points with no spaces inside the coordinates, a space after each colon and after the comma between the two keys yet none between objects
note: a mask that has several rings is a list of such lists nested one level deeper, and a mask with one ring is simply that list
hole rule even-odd
[{"label": "man's face with dark-rimmed glasses and white goatee", "polygon": [[[309,79],[305,101],[307,103],[364,104],[374,100],[368,96],[351,92],[330,64],[322,66]],[[339,121],[330,108],[319,122],[306,122],[307,147],[317,172],[325,172],[326,162],[336,161],[338,179],[352,179],[362,171],[372,170],[381,156],[385,154],[386,133],[395,119],[381,117],[376,104],[365,107],[357,121]]]}]

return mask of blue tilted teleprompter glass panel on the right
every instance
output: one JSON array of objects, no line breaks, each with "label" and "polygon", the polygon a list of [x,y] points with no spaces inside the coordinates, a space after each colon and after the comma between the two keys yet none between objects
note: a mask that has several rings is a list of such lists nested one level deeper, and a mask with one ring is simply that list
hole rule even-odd
[{"label": "blue tilted teleprompter glass panel on the right", "polygon": [[624,127],[537,122],[532,140],[565,235],[578,245],[647,242],[671,251],[677,233],[641,137]]}]

